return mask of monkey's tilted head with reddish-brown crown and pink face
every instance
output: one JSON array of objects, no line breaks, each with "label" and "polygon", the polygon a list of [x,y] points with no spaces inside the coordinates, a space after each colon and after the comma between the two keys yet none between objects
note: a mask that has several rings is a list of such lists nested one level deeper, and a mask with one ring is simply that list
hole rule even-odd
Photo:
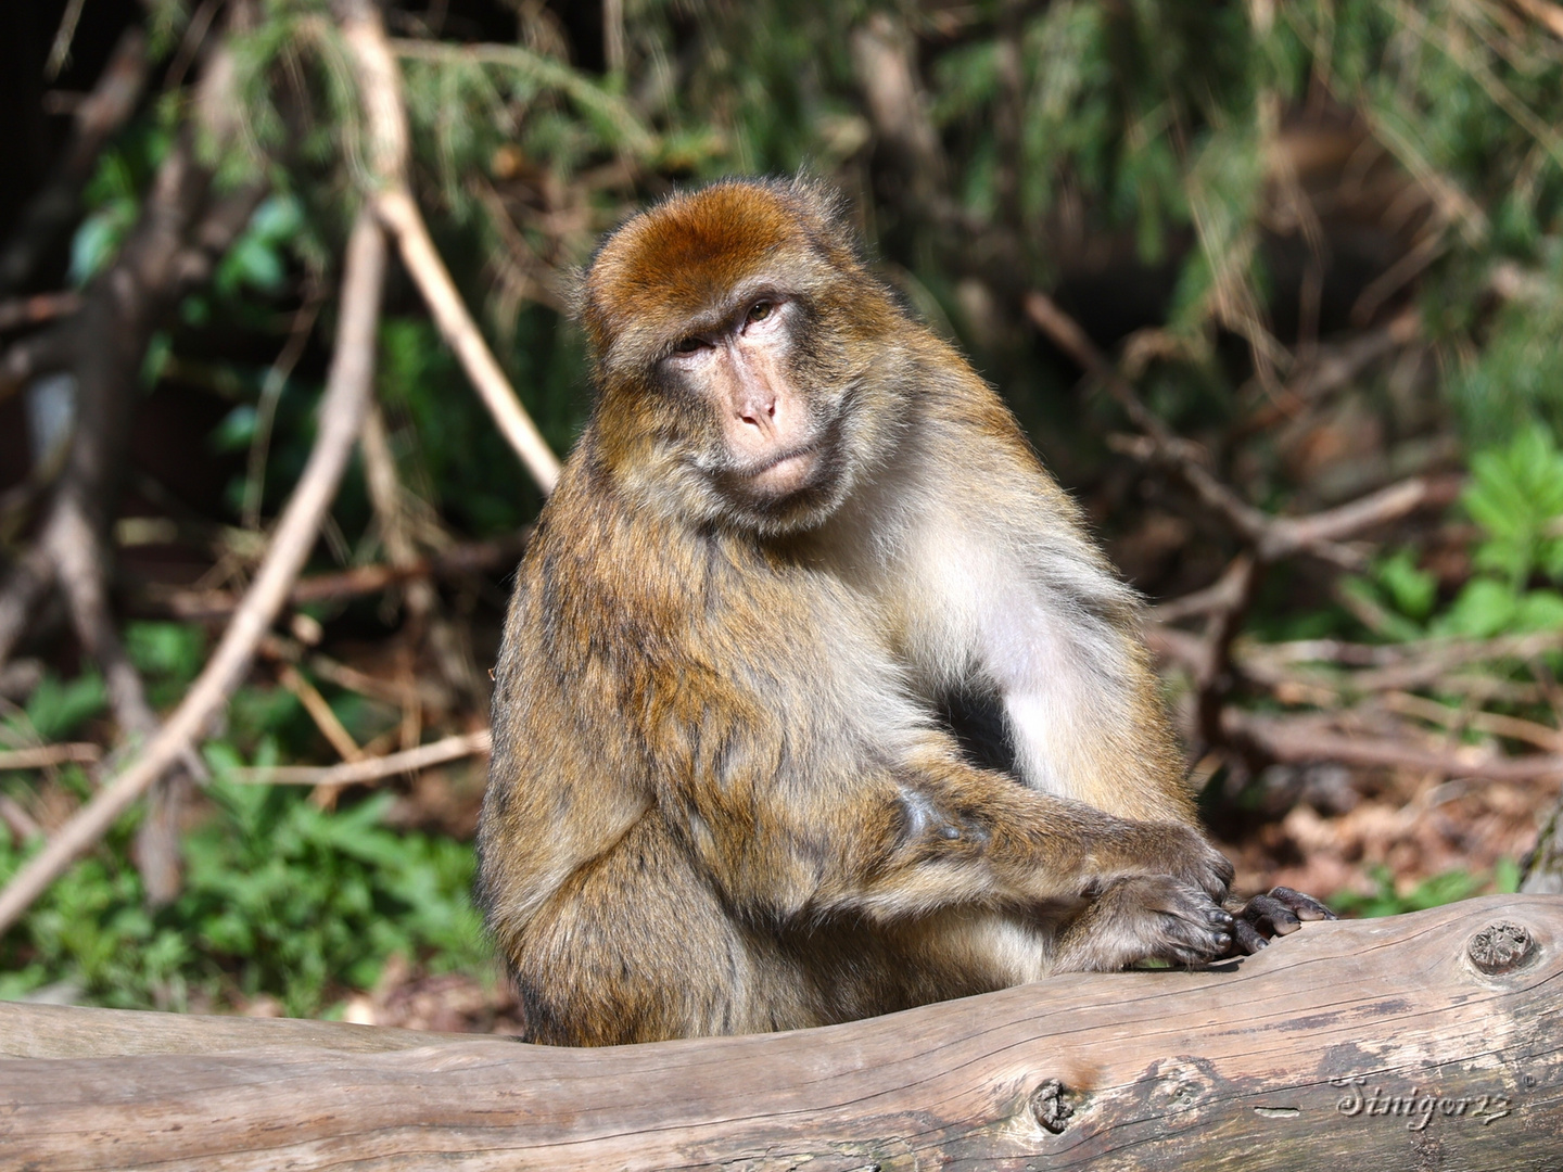
[{"label": "monkey's tilted head with reddish-brown crown and pink face", "polygon": [[581,322],[596,450],[696,523],[817,525],[891,444],[888,342],[905,327],[836,203],[807,181],[671,197],[602,245]]}]

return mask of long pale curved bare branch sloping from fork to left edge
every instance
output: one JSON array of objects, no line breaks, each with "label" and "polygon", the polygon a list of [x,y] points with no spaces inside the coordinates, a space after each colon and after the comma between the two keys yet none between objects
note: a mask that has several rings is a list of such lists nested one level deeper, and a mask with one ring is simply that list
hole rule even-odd
[{"label": "long pale curved bare branch sloping from fork to left edge", "polygon": [[384,259],[380,227],[367,211],[359,213],[347,247],[336,353],[320,403],[314,450],[283,509],[255,583],[216,653],[141,756],[77,811],[0,891],[0,931],[16,924],[48,884],[189,750],[249,670],[256,644],[281,611],[288,588],[314,545],[363,425],[374,380]]}]

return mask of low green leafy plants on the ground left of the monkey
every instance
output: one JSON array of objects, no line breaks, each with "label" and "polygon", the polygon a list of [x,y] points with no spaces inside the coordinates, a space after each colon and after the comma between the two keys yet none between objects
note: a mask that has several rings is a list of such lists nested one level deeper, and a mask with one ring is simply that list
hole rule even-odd
[{"label": "low green leafy plants on the ground left of the monkey", "polygon": [[[392,953],[436,972],[483,967],[470,845],[386,828],[389,794],[328,813],[286,786],[224,781],[236,755],[209,755],[219,780],[184,839],[180,899],[144,908],[122,822],[0,945],[0,997],[64,984],[86,1003],[183,1009],[269,994],[317,1016],[374,986]],[[0,880],[38,845],[0,842]]]}]

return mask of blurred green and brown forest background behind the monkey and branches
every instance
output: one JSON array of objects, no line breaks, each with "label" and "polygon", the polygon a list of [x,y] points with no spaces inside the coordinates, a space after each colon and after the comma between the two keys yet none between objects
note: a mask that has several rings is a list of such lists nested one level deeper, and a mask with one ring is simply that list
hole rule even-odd
[{"label": "blurred green and brown forest background behind the monkey and branches", "polygon": [[[1266,756],[1202,727],[1199,705],[1469,750],[1463,761],[1563,752],[1547,739],[1563,708],[1563,6],[383,11],[419,205],[561,455],[591,405],[570,281],[600,234],[681,184],[805,172],[847,197],[877,270],[997,386],[1152,602],[1210,586],[1252,534],[1177,467],[1136,455],[1121,403],[1039,328],[1033,294],[1269,514],[1408,477],[1444,486],[1350,533],[1344,566],[1297,555],[1261,577],[1230,616],[1225,677],[1202,681],[1166,655],[1168,695],[1250,888],[1291,881],[1372,913],[1513,889],[1555,770]],[[83,111],[114,69],[136,94],[97,133]],[[0,77],[9,578],[59,483],[73,403],[88,402],[58,383],[89,377],[80,353],[28,366],[28,347],[47,348],[105,288],[181,144],[214,200],[249,198],[211,273],[120,341],[123,473],[98,503],[116,622],[167,711],[222,628],[180,600],[244,588],[313,442],[367,181],[350,55],[327,3],[42,0],[0,13]],[[127,816],[0,939],[0,997],[505,1027],[513,1006],[467,895],[481,759],[339,800],[241,780],[338,758],[309,692],[370,755],[486,722],[506,578],[541,495],[400,272],[378,358],[395,519],[355,466],[309,573],[383,564],[388,525],[430,561],[499,545],[433,575],[420,599],[403,581],[294,608],[278,630],[292,659],[263,656],[202,749],[209,783],[177,803],[177,891],[148,903],[142,816]],[[1208,638],[1207,617],[1166,625]],[[1388,683],[1349,670],[1375,655],[1440,663],[1450,645],[1463,650],[1449,670]],[[58,602],[39,602],[0,658],[3,877],[136,733]],[[19,759],[5,752],[52,744],[109,756],[3,767]]]}]

